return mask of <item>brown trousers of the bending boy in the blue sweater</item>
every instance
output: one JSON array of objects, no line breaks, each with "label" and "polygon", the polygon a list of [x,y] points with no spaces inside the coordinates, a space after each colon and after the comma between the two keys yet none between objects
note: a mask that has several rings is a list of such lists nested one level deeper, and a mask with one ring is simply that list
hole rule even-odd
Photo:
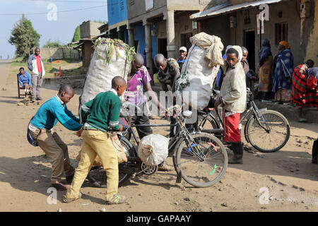
[{"label": "brown trousers of the bending boy in the blue sweater", "polygon": [[[40,132],[41,131],[41,132]],[[40,133],[40,135],[38,135]],[[30,131],[33,138],[37,138],[37,144],[45,152],[52,164],[51,183],[61,182],[61,177],[71,176],[75,169],[69,161],[67,145],[61,140],[56,132],[46,129],[37,129],[34,133]]]}]

